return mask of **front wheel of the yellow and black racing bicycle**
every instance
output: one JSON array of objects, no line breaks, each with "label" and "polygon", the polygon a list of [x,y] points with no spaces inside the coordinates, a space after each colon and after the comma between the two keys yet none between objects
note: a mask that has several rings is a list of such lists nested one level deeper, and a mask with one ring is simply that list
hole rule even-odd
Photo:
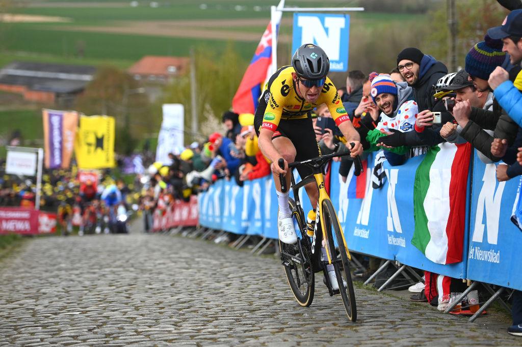
[{"label": "front wheel of the yellow and black racing bicycle", "polygon": [[[330,200],[323,202],[323,218],[326,228],[326,237],[328,238],[328,248],[330,257],[334,265],[337,283],[339,284],[339,292],[342,302],[345,304],[346,314],[351,321],[357,320],[357,307],[355,305],[355,293],[353,292],[352,276],[350,273],[350,265],[348,255],[342,238],[342,229],[339,225],[334,206]],[[335,244],[339,246],[339,255],[337,255]]]}]

